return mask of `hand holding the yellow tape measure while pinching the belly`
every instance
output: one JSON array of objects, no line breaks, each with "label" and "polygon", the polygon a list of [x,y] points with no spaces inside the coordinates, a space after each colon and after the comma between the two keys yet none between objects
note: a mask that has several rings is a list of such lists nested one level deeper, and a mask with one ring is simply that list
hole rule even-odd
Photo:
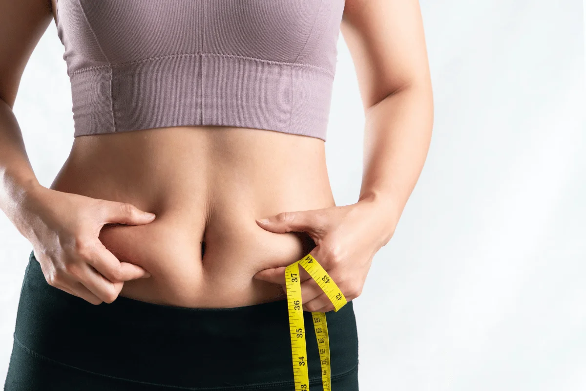
[{"label": "hand holding the yellow tape measure while pinching the belly", "polygon": [[[309,254],[350,301],[362,293],[374,254],[393,236],[397,220],[388,213],[390,209],[389,205],[360,200],[352,205],[282,212],[256,221],[270,232],[306,232],[316,244]],[[261,270],[254,278],[280,284],[286,292],[287,266]],[[304,311],[332,311],[332,302],[303,267],[299,267],[299,274]]]}]

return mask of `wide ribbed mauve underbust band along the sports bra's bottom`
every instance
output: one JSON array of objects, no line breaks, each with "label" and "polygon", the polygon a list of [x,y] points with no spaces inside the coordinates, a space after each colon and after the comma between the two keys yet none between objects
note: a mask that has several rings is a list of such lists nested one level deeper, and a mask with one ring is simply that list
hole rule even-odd
[{"label": "wide ribbed mauve underbust band along the sports bra's bottom", "polygon": [[196,53],[93,67],[70,80],[74,137],[224,125],[325,141],[333,74],[305,64]]}]

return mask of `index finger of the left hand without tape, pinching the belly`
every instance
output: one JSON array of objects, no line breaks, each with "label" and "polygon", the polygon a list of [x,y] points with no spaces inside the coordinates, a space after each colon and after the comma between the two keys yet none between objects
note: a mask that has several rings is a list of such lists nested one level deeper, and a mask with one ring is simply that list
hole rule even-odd
[{"label": "index finger of the left hand without tape, pinching the belly", "polygon": [[94,253],[87,259],[87,263],[102,274],[111,283],[121,283],[137,278],[151,277],[144,268],[128,262],[120,262],[99,240],[94,247]]}]

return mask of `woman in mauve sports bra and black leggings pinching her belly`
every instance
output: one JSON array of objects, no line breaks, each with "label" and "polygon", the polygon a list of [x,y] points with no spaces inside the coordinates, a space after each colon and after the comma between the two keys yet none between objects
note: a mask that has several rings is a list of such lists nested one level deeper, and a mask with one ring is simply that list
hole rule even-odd
[{"label": "woman in mauve sports bra and black leggings pinching her belly", "polygon": [[[308,253],[349,302],[332,311],[301,270],[303,310],[326,312],[332,389],[357,389],[351,300],[430,142],[418,2],[2,0],[0,15],[0,205],[32,244],[6,390],[293,389],[284,270]],[[75,138],[45,188],[12,107],[51,18]],[[346,206],[324,148],[339,31],[366,114]]]}]

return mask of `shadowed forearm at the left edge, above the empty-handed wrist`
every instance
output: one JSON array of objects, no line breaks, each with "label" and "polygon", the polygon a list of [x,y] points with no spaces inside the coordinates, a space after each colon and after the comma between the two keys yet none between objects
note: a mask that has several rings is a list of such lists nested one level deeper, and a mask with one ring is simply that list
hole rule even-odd
[{"label": "shadowed forearm at the left edge, above the empty-handed wrist", "polygon": [[23,235],[26,216],[21,202],[39,187],[16,117],[0,99],[0,209]]}]

